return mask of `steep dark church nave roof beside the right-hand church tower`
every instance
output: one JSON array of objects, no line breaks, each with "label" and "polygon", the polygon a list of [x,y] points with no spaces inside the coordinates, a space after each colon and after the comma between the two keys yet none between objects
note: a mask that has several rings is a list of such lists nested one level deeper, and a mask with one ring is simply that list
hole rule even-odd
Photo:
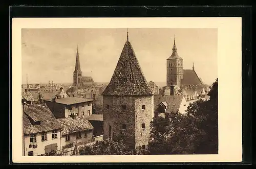
[{"label": "steep dark church nave roof beside the right-hand church tower", "polygon": [[183,79],[181,80],[182,85],[202,85],[199,77],[195,70],[184,69],[183,71]]}]

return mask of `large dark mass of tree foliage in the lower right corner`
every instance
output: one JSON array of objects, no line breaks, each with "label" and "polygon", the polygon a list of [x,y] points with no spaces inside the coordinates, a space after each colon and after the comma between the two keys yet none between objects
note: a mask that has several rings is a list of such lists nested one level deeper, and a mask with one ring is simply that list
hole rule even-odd
[{"label": "large dark mass of tree foliage in the lower right corner", "polygon": [[218,154],[218,79],[208,95],[208,101],[190,104],[186,114],[154,118],[151,154]]}]

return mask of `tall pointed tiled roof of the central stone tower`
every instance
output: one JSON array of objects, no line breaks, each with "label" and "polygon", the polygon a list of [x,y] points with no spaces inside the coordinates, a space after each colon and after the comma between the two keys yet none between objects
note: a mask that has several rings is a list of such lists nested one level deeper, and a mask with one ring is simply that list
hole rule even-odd
[{"label": "tall pointed tiled roof of the central stone tower", "polygon": [[103,95],[153,95],[128,38],[109,85]]}]

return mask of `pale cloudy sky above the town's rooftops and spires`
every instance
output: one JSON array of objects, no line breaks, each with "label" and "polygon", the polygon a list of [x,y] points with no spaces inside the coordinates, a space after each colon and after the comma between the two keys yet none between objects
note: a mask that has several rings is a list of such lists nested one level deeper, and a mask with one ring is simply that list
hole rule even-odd
[{"label": "pale cloudy sky above the town's rooftops and spires", "polygon": [[[22,29],[22,83],[72,83],[78,46],[83,76],[109,82],[127,29]],[[183,68],[205,84],[218,75],[218,29],[129,29],[129,40],[146,80],[166,82],[166,59],[175,42]]]}]

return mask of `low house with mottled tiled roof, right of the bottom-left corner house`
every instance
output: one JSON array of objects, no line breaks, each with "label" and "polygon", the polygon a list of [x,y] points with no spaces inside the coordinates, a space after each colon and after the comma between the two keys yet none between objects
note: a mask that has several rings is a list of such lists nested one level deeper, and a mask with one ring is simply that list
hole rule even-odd
[{"label": "low house with mottled tiled roof, right of the bottom-left corner house", "polygon": [[93,126],[86,116],[72,116],[58,118],[61,125],[61,148],[66,149],[74,147],[75,143],[89,143],[93,141]]}]

